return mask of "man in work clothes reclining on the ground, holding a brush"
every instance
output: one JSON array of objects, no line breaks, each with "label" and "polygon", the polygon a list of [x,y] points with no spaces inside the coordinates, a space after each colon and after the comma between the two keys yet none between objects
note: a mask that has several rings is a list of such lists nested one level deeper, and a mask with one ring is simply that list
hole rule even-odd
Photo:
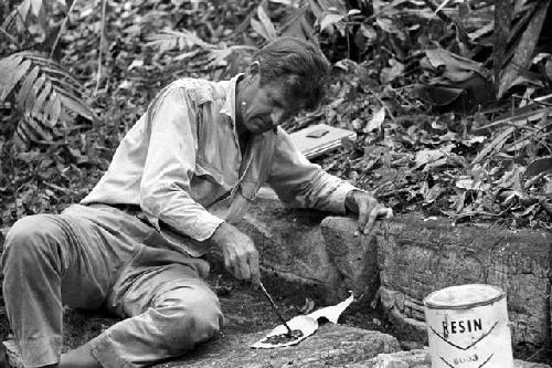
[{"label": "man in work clothes reclining on the ground, holding a brush", "polygon": [[[290,206],[359,213],[368,233],[388,209],[310,164],[278,127],[320,102],[328,71],[310,44],[280,38],[231,81],[179,80],[81,204],[18,221],[3,294],[24,365],[144,367],[212,337],[223,317],[201,256],[221,248],[235,277],[258,283],[255,244],[230,222],[265,182]],[[61,355],[63,305],[126,319]]]}]

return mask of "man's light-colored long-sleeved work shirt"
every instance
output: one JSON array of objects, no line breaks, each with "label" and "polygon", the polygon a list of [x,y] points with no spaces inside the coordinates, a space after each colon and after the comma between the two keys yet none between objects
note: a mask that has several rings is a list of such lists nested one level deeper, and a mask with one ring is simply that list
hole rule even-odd
[{"label": "man's light-colored long-sleeved work shirt", "polygon": [[284,129],[253,136],[241,153],[236,76],[181,78],[162,90],[126,134],[82,204],[139,204],[176,250],[192,256],[224,221],[238,218],[261,186],[291,207],[343,213],[354,187],[308,161]]}]

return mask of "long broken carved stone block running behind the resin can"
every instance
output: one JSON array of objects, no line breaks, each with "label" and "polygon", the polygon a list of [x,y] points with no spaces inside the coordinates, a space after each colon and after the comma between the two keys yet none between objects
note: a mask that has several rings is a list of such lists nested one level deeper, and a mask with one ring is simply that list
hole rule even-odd
[{"label": "long broken carved stone block running behind the resin can", "polygon": [[360,302],[371,302],[379,290],[404,339],[426,340],[422,301],[427,294],[450,285],[486,283],[507,292],[518,347],[531,350],[546,344],[550,233],[454,227],[444,219],[425,221],[413,214],[379,222],[374,241],[353,235],[354,219],[322,220],[327,214],[287,209],[265,190],[237,225],[254,239],[265,270],[321,286],[316,294],[329,302],[349,290]]}]

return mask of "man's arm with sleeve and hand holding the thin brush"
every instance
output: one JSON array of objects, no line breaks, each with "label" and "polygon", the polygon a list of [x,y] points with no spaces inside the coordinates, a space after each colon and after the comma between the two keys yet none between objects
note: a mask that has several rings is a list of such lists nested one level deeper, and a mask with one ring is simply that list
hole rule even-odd
[{"label": "man's arm with sleeve and hand holding the thin brush", "polygon": [[162,94],[152,105],[150,144],[140,182],[141,208],[171,229],[220,246],[226,270],[258,283],[258,253],[250,236],[211,214],[190,197],[194,176],[195,115],[183,90]]}]

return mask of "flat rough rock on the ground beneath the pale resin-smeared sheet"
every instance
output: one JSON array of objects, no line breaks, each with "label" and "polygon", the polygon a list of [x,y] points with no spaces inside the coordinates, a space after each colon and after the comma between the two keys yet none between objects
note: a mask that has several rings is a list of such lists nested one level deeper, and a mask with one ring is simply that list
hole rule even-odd
[{"label": "flat rough rock on the ground beneath the pale resin-smeared sheet", "polygon": [[320,326],[315,335],[297,346],[278,349],[250,347],[267,333],[224,336],[203,344],[180,360],[157,368],[347,367],[380,353],[400,350],[397,340],[390,335],[331,324]]}]

